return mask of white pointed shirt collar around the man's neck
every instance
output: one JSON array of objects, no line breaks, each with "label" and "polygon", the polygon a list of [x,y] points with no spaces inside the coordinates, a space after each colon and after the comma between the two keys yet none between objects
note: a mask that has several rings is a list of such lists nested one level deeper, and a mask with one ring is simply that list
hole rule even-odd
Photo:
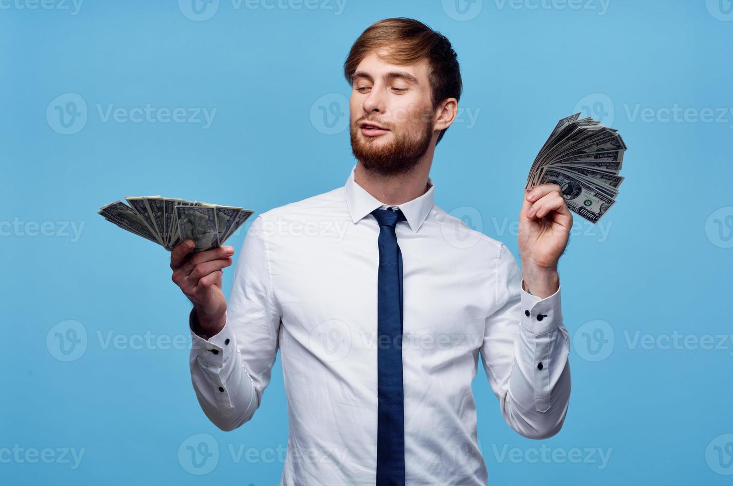
[{"label": "white pointed shirt collar around the man's neck", "polygon": [[[356,224],[356,222],[361,220],[361,218],[364,218],[364,216],[372,213],[372,211],[377,209],[377,207],[382,207],[385,204],[380,202],[379,199],[376,199],[375,196],[369,194],[366,189],[356,183],[354,180],[355,169],[356,164],[351,168],[351,174],[349,174],[349,178],[346,180],[344,189],[346,193],[346,205],[349,208],[352,221]],[[424,194],[412,199],[411,201],[397,205],[397,207],[402,210],[402,214],[405,215],[405,218],[407,218],[410,229],[412,229],[413,232],[416,232],[419,229],[432,208],[435,184],[432,182],[432,179],[430,179],[430,176],[427,177],[427,185],[429,187]]]}]

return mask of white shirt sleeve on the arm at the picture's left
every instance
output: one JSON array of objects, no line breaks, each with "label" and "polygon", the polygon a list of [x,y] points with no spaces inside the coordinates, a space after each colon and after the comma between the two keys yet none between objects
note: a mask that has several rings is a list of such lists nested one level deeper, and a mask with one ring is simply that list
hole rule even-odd
[{"label": "white shirt sleeve on the arm at the picture's left", "polygon": [[191,328],[191,382],[202,410],[221,430],[249,421],[262,402],[278,350],[281,315],[273,296],[262,217],[248,229],[235,267],[224,328],[204,339]]}]

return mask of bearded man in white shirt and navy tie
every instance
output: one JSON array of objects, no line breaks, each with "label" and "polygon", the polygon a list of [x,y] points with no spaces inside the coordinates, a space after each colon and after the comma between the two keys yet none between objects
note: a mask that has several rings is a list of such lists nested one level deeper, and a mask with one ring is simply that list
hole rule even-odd
[{"label": "bearded man in white shirt and navy tie", "polygon": [[221,430],[240,427],[280,349],[281,485],[486,485],[471,394],[479,354],[510,427],[548,438],[565,419],[557,262],[572,217],[557,185],[524,196],[520,279],[506,246],[433,203],[433,152],[462,88],[446,37],[411,19],[377,22],[345,76],[357,159],[346,184],[252,222],[228,304],[221,275],[234,248],[191,256],[189,240],[172,252],[173,280],[194,303],[196,396]]}]

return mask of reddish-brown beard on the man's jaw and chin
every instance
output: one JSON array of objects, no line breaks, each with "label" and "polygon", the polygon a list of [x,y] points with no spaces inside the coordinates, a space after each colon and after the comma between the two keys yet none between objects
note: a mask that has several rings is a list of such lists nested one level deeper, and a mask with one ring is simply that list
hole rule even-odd
[{"label": "reddish-brown beard on the man's jaw and chin", "polygon": [[368,172],[380,175],[405,174],[414,169],[432,139],[432,120],[427,121],[418,133],[401,133],[394,135],[394,140],[383,144],[377,140],[380,136],[363,136],[359,133],[358,120],[350,127],[351,151]]}]

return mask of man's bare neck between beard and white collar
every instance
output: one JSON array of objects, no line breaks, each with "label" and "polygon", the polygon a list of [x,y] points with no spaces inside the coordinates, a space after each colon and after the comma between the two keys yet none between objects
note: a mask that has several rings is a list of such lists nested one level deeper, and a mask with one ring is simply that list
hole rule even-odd
[{"label": "man's bare neck between beard and white collar", "polygon": [[432,158],[424,158],[409,172],[402,174],[375,174],[356,163],[354,182],[361,185],[375,199],[388,206],[401,205],[427,192],[427,177],[430,174]]}]

